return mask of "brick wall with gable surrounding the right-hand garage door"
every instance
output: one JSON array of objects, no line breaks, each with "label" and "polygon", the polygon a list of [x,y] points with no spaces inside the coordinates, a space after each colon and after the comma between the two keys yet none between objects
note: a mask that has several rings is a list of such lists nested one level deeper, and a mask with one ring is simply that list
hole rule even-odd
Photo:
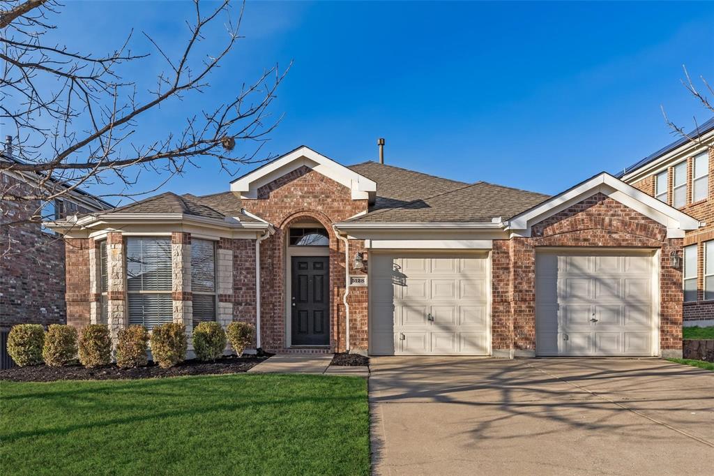
[{"label": "brick wall with gable surrounding the right-hand garage door", "polygon": [[535,252],[538,247],[648,247],[661,249],[660,348],[682,347],[681,272],[669,266],[682,239],[665,227],[598,193],[545,219],[531,237],[493,242],[493,349],[535,352]]}]

